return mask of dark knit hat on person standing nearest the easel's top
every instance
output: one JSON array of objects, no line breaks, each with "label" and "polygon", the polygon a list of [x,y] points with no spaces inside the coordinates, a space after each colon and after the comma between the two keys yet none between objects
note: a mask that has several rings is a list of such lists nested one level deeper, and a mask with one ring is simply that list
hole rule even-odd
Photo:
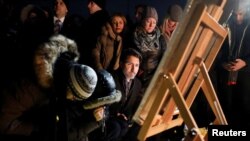
[{"label": "dark knit hat on person standing nearest the easel's top", "polygon": [[168,14],[171,20],[179,22],[182,16],[183,10],[180,5],[171,5],[168,9]]}]

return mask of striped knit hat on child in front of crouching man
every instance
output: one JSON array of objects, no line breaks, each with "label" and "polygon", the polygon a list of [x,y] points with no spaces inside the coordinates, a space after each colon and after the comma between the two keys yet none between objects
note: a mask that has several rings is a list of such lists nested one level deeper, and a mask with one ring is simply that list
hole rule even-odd
[{"label": "striped knit hat on child in front of crouching man", "polygon": [[69,87],[77,99],[89,98],[95,90],[97,74],[89,66],[74,64],[70,68]]}]

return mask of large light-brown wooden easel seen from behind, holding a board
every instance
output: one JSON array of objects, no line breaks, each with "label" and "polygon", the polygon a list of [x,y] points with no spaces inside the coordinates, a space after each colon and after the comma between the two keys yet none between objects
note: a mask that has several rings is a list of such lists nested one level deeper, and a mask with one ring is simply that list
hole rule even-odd
[{"label": "large light-brown wooden easel seen from behind, holding a board", "polygon": [[141,125],[138,139],[180,126],[183,122],[195,131],[186,140],[203,141],[190,107],[202,88],[216,117],[214,124],[227,124],[208,75],[227,31],[218,23],[226,0],[206,6],[190,0],[168,50],[137,109],[133,120]]}]

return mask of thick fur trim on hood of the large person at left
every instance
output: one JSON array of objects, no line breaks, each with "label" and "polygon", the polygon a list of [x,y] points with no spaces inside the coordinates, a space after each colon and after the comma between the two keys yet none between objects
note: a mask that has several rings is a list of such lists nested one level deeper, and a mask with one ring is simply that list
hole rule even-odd
[{"label": "thick fur trim on hood of the large person at left", "polygon": [[62,53],[67,53],[67,59],[75,62],[80,56],[76,42],[60,34],[51,36],[35,50],[34,71],[43,88],[52,86],[54,65]]}]

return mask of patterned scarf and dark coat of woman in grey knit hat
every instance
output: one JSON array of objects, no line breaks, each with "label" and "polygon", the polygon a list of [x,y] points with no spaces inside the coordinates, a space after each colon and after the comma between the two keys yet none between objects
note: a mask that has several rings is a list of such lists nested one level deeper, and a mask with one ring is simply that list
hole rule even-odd
[{"label": "patterned scarf and dark coat of woman in grey knit hat", "polygon": [[138,26],[134,32],[134,42],[142,54],[140,69],[143,72],[141,78],[145,81],[152,77],[158,67],[167,48],[166,41],[158,27],[148,34],[143,27]]}]

